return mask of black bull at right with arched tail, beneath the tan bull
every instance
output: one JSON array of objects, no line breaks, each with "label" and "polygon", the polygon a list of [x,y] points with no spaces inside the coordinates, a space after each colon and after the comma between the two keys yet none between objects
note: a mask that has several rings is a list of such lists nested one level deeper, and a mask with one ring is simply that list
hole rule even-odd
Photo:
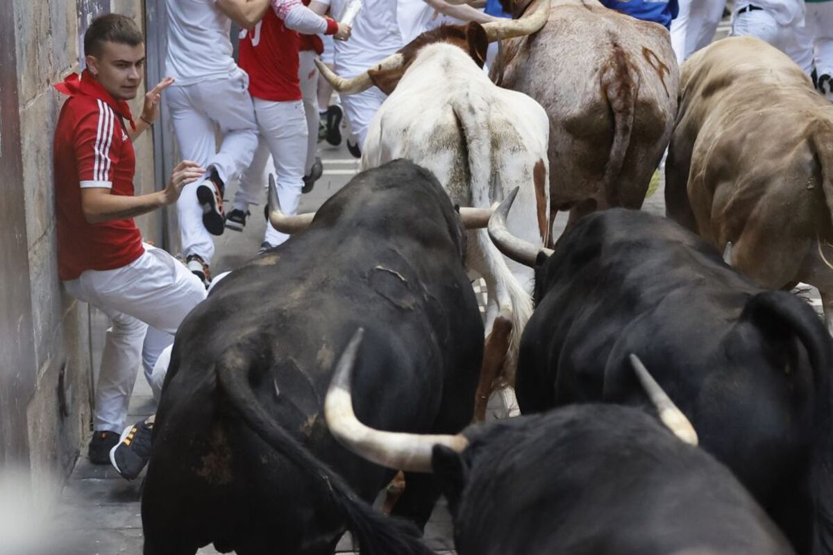
[{"label": "black bull at right with arched tail, beneath the tan bull", "polygon": [[831,338],[803,300],[767,291],[679,225],[586,216],[536,264],[521,412],[646,404],[636,353],[800,553],[833,553]]}]

